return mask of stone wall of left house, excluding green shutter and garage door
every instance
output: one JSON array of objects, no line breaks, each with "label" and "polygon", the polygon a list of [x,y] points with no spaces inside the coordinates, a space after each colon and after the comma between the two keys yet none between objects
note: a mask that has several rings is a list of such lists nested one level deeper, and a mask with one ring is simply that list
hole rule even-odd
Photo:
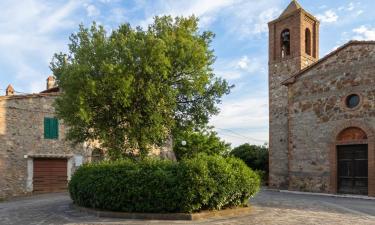
[{"label": "stone wall of left house, excluding green shutter and garage door", "polygon": [[[64,141],[66,127],[60,122],[58,140],[44,139],[44,117],[53,117],[56,94],[0,97],[0,198],[22,195],[27,188],[28,161],[32,155],[82,156],[83,145]],[[28,155],[28,158],[25,158]],[[72,161],[72,171],[75,169]]]}]

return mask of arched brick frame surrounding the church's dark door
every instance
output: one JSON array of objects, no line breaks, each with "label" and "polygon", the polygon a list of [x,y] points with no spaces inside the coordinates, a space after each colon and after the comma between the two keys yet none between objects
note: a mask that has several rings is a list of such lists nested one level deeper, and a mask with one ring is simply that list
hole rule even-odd
[{"label": "arched brick frame surrounding the church's dark door", "polygon": [[[366,133],[367,139],[338,141],[342,131],[348,128],[358,128]],[[368,154],[368,196],[375,197],[375,133],[373,129],[362,121],[347,121],[333,131],[332,144],[330,147],[330,192],[337,193],[337,146],[367,144]]]}]

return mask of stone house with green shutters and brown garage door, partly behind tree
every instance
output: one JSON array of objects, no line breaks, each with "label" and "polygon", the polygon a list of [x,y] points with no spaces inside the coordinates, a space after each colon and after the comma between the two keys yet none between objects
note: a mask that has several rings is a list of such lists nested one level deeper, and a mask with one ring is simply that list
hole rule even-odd
[{"label": "stone house with green shutters and brown garage door, partly behind tree", "polygon": [[[84,162],[100,161],[105,153],[97,142],[72,146],[65,140],[67,127],[55,117],[59,95],[49,76],[47,89],[16,95],[9,85],[0,96],[0,199],[11,196],[66,191],[67,183]],[[152,155],[175,159],[172,140]]]}]

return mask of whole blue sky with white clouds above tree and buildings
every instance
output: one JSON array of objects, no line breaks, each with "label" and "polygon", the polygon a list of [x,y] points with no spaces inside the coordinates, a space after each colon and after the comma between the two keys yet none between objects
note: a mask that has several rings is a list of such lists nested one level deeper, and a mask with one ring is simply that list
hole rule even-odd
[{"label": "whole blue sky with white clouds above tree and buildings", "polygon": [[[66,51],[78,25],[92,21],[108,30],[129,22],[145,27],[155,15],[200,18],[200,28],[216,33],[215,72],[236,87],[211,120],[232,146],[268,140],[267,22],[290,0],[0,0],[0,92],[8,84],[39,92],[51,73],[55,52]],[[356,40],[375,39],[372,0],[300,0],[321,21],[320,57]]]}]

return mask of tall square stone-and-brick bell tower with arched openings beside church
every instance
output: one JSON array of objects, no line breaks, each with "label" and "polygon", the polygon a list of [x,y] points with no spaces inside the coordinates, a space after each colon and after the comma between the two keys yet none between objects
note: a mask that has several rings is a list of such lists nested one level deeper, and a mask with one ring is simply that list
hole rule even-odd
[{"label": "tall square stone-and-brick bell tower with arched openings beside church", "polygon": [[288,88],[281,83],[319,59],[319,21],[293,0],[268,28],[269,184],[287,189]]}]

